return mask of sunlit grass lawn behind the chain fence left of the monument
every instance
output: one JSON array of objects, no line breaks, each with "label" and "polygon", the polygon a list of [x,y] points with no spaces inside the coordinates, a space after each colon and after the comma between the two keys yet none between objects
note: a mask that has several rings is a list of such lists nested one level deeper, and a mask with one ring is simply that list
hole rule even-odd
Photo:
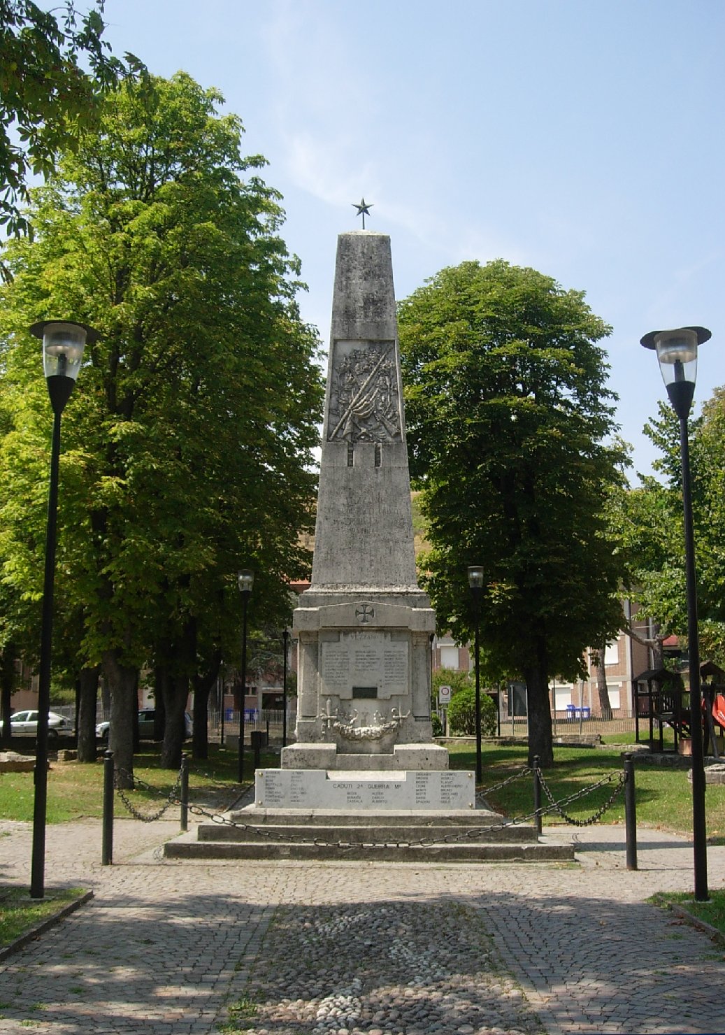
[{"label": "sunlit grass lawn behind the chain fence left of the monument", "polygon": [[[159,767],[160,747],[158,744],[144,744],[134,757],[133,773],[154,789],[168,795],[176,782],[177,773]],[[244,751],[244,776],[253,779],[253,752]],[[279,765],[279,756],[262,755],[262,764],[269,768]],[[209,745],[209,758],[195,762],[189,756],[189,798],[200,804],[217,803],[235,797],[238,757],[235,750],[225,750],[218,744]],[[143,790],[124,792],[130,800],[151,810],[151,806],[161,803],[160,796]],[[33,818],[33,774],[2,773],[0,775],[0,816],[8,820],[32,821]],[[145,803],[148,803],[146,805]],[[83,816],[102,816],[103,811],[103,761],[102,756],[94,764],[79,762],[52,762],[48,773],[49,823],[63,823]],[[123,815],[123,805],[116,805],[118,816]],[[173,811],[170,814],[173,815]],[[178,810],[177,810],[178,815]]]}]

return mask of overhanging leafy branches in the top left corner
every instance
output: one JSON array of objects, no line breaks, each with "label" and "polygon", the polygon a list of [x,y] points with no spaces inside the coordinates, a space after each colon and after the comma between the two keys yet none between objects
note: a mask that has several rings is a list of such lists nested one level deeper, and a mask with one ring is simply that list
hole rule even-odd
[{"label": "overhanging leafy branches in the top left corner", "polygon": [[95,0],[79,23],[73,0],[64,0],[60,18],[33,0],[0,0],[0,225],[11,234],[30,229],[19,209],[28,175],[51,176],[58,152],[96,125],[103,93],[125,75],[145,72],[132,54],[125,65],[111,56],[103,6]]}]

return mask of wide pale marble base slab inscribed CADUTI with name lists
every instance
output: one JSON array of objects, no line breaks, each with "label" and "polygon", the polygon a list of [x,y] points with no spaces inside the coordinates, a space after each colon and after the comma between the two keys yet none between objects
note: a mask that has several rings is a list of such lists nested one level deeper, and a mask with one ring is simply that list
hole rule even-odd
[{"label": "wide pale marble base slab inscribed CADUTI with name lists", "polygon": [[258,769],[254,781],[254,804],[262,808],[451,811],[475,808],[475,801],[474,774],[461,770]]}]

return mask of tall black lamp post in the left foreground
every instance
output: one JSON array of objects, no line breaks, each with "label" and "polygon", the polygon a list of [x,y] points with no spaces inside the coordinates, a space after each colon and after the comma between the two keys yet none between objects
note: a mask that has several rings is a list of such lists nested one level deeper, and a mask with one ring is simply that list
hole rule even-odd
[{"label": "tall black lamp post in the left foreground", "polygon": [[44,320],[33,324],[30,333],[42,341],[42,365],[53,407],[51,441],[51,484],[46,526],[46,571],[42,584],[40,620],[40,668],[38,672],[38,721],[35,740],[35,797],[33,801],[33,849],[30,894],[46,893],[46,807],[48,802],[48,710],[51,706],[51,654],[53,648],[53,589],[56,569],[56,518],[58,512],[58,466],[60,460],[60,418],[70,398],[81,369],[86,342],[95,342],[97,331],[83,324]]}]

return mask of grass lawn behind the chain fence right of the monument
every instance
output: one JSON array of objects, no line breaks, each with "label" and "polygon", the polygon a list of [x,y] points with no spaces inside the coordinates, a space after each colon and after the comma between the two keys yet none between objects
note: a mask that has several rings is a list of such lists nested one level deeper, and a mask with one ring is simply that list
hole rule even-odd
[{"label": "grass lawn behind the chain fence right of the monument", "polygon": [[[476,766],[476,751],[470,745],[453,745],[451,769],[473,769]],[[485,746],[483,761],[483,792],[518,768],[526,764],[526,748],[522,745],[501,747]],[[568,797],[597,782],[607,773],[616,776],[622,772],[621,751],[593,749],[591,747],[562,747],[554,745],[553,769],[544,771],[556,801]],[[531,775],[509,783],[501,791],[487,796],[490,805],[507,816],[525,816],[532,811],[533,789]],[[638,765],[635,770],[637,789],[637,822],[660,827],[675,833],[692,833],[692,789],[685,769],[669,769],[664,766]],[[566,807],[569,816],[577,820],[592,816],[611,795],[615,782],[605,785],[579,801]],[[542,804],[546,797],[542,794]],[[725,787],[709,786],[705,793],[707,836],[714,842],[725,842]],[[624,795],[620,794],[615,803],[603,816],[603,823],[624,823]],[[543,818],[544,824],[561,823],[556,812]]]}]

